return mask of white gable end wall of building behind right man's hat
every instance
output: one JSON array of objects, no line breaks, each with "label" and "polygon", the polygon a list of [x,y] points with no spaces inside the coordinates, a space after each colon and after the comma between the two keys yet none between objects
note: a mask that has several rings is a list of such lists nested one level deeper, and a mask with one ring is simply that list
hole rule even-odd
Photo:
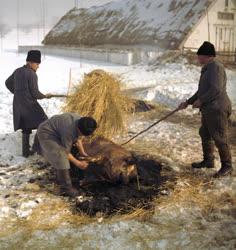
[{"label": "white gable end wall of building behind right man's hat", "polygon": [[[208,15],[204,16],[194,28],[184,47],[198,48],[204,41],[210,41],[217,51],[236,51],[236,3],[234,2],[228,0],[228,8],[226,8],[225,0],[217,0],[208,11],[206,10]],[[234,20],[219,19],[219,12],[233,13]]]}]

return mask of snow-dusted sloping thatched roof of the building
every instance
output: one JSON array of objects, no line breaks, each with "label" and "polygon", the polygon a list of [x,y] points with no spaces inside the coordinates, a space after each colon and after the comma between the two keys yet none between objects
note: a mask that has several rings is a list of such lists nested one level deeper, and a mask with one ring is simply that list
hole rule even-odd
[{"label": "snow-dusted sloping thatched roof of the building", "polygon": [[176,49],[213,0],[119,0],[72,9],[45,44],[75,46],[155,45]]}]

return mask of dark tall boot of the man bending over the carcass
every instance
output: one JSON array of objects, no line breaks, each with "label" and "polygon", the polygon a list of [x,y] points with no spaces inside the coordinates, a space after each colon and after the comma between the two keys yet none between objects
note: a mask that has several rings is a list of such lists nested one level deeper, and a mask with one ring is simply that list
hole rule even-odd
[{"label": "dark tall boot of the man bending over the carcass", "polygon": [[79,191],[72,186],[69,169],[57,170],[57,183],[60,186],[61,195],[72,198],[79,196]]}]

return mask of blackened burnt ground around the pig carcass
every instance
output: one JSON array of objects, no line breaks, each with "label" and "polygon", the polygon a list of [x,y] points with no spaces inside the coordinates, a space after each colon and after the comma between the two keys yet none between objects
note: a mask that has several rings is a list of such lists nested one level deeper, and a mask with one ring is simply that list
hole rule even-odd
[{"label": "blackened burnt ground around the pig carcass", "polygon": [[151,156],[134,155],[134,161],[139,181],[134,180],[126,185],[97,182],[82,189],[79,181],[83,179],[83,172],[72,167],[73,184],[83,193],[76,201],[76,210],[95,216],[97,213],[125,214],[137,208],[151,209],[152,201],[160,195],[164,183],[170,177],[161,176],[162,165]]}]

